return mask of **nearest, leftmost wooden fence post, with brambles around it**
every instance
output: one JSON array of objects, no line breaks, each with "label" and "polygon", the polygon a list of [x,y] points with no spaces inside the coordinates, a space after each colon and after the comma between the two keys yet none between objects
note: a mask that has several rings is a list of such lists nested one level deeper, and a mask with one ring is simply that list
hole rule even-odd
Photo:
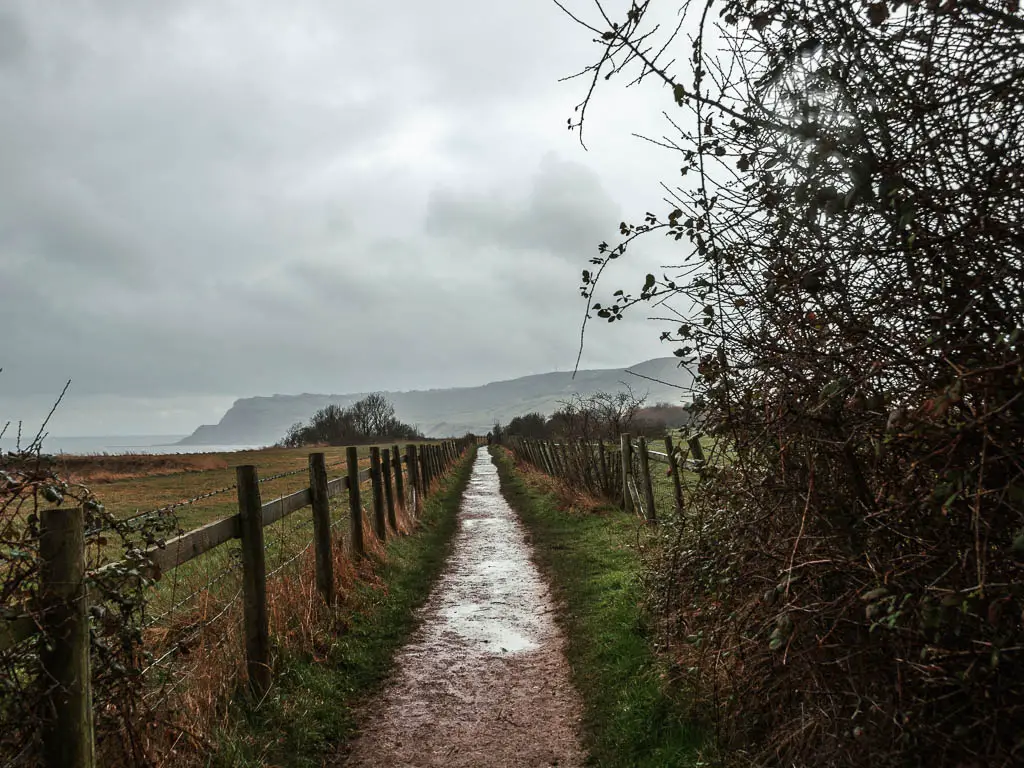
[{"label": "nearest, leftmost wooden fence post, with brambles around it", "polygon": [[93,768],[85,512],[81,507],[45,509],[39,525],[39,588],[46,638],[40,660],[48,699],[43,765]]}]

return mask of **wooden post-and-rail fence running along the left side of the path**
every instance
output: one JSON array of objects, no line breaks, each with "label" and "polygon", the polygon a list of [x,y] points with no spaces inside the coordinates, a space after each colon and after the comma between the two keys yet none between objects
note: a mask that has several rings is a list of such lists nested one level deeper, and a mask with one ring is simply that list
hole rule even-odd
[{"label": "wooden post-and-rail fence running along the left side of the path", "polygon": [[[266,563],[263,528],[305,507],[312,508],[313,553],[316,587],[328,604],[334,601],[334,558],[330,500],[347,490],[349,548],[362,557],[362,506],[359,483],[372,487],[371,523],[378,539],[397,529],[396,507],[407,499],[415,515],[422,509],[431,483],[444,474],[473,443],[461,438],[437,443],[409,444],[404,456],[398,445],[372,447],[370,467],[359,470],[357,450],[346,450],[347,474],[328,478],[323,453],[309,455],[309,485],[264,504],[260,499],[258,470],[246,465],[236,469],[238,514],[189,530],[163,546],[153,547],[140,559],[102,566],[86,572],[84,511],[80,507],[47,509],[40,515],[39,618],[0,618],[0,651],[44,633],[40,643],[40,675],[49,713],[42,734],[45,768],[93,768],[95,765],[89,640],[87,577],[102,571],[134,572],[139,567],[166,573],[232,540],[242,545],[243,623],[248,684],[257,695],[270,685],[271,646],[266,601]],[[404,470],[404,471],[403,471]],[[352,482],[351,478],[356,478]],[[408,492],[408,493],[407,493]]]}]

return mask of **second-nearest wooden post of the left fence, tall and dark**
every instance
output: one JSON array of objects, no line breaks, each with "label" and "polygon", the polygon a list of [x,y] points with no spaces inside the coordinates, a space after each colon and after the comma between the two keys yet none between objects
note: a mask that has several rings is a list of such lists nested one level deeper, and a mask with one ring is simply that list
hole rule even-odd
[{"label": "second-nearest wooden post of the left fence, tall and dark", "polygon": [[266,562],[263,505],[256,467],[234,470],[239,485],[239,532],[242,538],[242,594],[249,687],[262,696],[270,687],[270,627],[266,611]]}]

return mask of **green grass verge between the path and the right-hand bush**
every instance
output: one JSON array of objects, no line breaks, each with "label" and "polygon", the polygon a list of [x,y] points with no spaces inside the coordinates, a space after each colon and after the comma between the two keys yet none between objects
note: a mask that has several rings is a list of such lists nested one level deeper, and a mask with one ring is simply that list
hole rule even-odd
[{"label": "green grass verge between the path and the right-hand bush", "polygon": [[538,563],[560,601],[572,679],[584,699],[590,764],[668,768],[696,762],[697,730],[664,684],[639,607],[637,518],[577,514],[522,480],[496,452],[502,493],[529,530]]}]

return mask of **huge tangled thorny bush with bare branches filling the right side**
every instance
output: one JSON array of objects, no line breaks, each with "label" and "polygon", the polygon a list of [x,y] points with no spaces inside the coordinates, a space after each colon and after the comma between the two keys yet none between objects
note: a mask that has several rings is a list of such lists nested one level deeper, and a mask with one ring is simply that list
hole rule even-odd
[{"label": "huge tangled thorny bush with bare branches filling the right side", "polygon": [[[677,683],[729,763],[1020,765],[1019,3],[607,10],[575,16],[600,55],[570,126],[606,78],[667,86],[677,181],[583,295],[676,315],[729,452],[648,574]],[[651,233],[678,266],[596,301]]]}]

